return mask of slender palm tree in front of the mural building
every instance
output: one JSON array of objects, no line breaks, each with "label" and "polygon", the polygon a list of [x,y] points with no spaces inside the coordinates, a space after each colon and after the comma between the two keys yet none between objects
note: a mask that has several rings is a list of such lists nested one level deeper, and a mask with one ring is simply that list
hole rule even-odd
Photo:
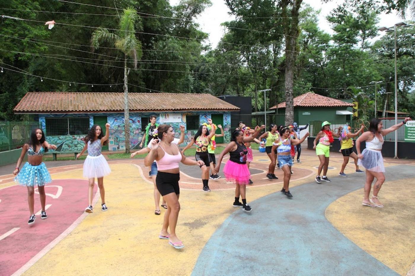
[{"label": "slender palm tree in front of the mural building", "polygon": [[98,48],[100,43],[111,43],[124,54],[124,123],[125,123],[125,152],[130,152],[129,104],[128,104],[128,58],[133,59],[134,69],[142,56],[141,42],[135,36],[134,26],[140,19],[133,7],[123,10],[120,16],[119,31],[111,33],[106,28],[99,28],[92,34],[91,44]]}]

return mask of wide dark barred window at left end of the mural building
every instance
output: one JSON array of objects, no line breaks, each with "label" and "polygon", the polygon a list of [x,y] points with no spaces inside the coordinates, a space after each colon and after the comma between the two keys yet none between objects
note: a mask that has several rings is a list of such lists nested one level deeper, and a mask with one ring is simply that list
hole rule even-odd
[{"label": "wide dark barred window at left end of the mural building", "polygon": [[46,118],[46,135],[86,135],[89,118]]}]

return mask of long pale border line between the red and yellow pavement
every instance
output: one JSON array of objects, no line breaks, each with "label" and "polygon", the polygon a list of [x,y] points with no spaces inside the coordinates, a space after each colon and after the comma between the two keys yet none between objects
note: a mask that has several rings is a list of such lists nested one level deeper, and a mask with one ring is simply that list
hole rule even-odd
[{"label": "long pale border line between the red and yellow pavement", "polygon": [[[77,179],[78,180],[78,179]],[[95,182],[95,184],[97,184]],[[98,199],[100,197],[100,193],[95,194],[95,197],[93,199],[93,204],[95,205],[95,203],[97,203]],[[58,237],[56,237],[56,239],[54,239],[53,241],[51,241],[49,243],[49,245],[46,245],[44,247],[44,249],[42,249],[39,253],[37,253],[36,255],[34,255],[34,257],[32,259],[30,259],[26,264],[24,264],[19,270],[17,270],[15,273],[12,274],[12,276],[17,276],[17,275],[22,275],[25,271],[27,271],[27,269],[29,269],[32,265],[34,265],[37,261],[39,261],[39,259],[41,257],[43,257],[44,255],[46,255],[47,252],[49,252],[52,248],[54,248],[55,245],[57,245],[61,240],[63,240],[64,237],[66,237],[67,235],[69,235],[73,229],[76,228],[76,226],[78,226],[82,220],[84,218],[86,218],[86,216],[88,215],[88,213],[84,212],[78,219],[76,219],[71,226],[69,226],[65,231],[62,232],[61,235],[59,235]]]}]

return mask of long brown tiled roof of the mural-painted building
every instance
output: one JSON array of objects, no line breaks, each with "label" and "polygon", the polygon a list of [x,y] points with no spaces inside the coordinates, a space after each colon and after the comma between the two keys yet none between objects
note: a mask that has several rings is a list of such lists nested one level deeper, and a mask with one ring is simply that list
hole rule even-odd
[{"label": "long brown tiled roof of the mural-painted building", "polygon": [[[211,94],[129,93],[130,112],[238,111]],[[123,112],[124,93],[27,92],[15,109],[17,114]]]}]

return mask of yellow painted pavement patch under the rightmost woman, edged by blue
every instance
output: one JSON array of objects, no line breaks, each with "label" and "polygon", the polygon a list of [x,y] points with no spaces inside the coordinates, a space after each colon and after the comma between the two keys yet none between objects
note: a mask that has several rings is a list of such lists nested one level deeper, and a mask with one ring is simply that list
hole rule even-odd
[{"label": "yellow painted pavement patch under the rightmost woman, edged by blue", "polygon": [[[384,208],[356,208],[364,191],[354,191],[330,204],[326,218],[356,245],[398,274],[406,275],[415,261],[414,181],[386,179],[379,192]],[[376,275],[376,271],[368,274]]]}]

